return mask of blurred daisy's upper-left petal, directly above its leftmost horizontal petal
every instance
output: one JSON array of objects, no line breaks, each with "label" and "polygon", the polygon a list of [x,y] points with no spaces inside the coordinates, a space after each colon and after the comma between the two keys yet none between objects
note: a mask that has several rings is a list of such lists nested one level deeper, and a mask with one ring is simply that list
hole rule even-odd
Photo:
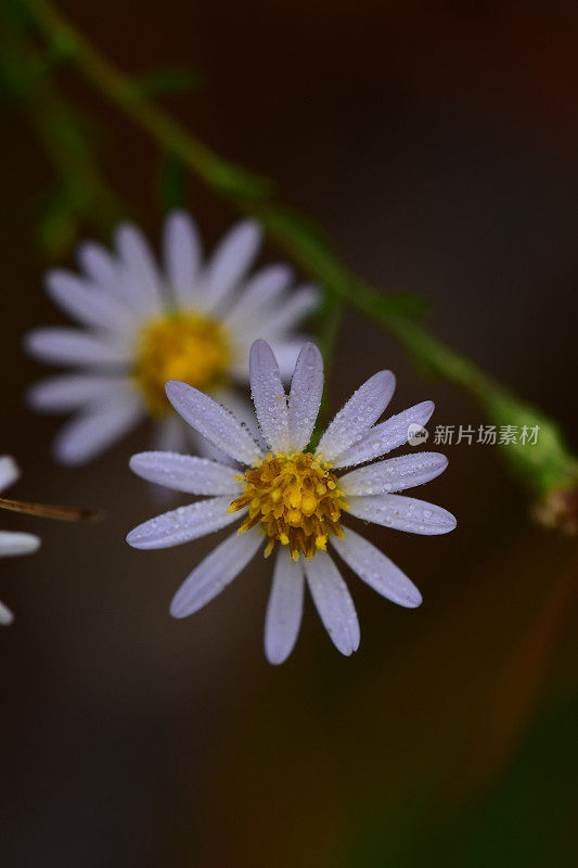
[{"label": "blurred daisy's upper-left petal, directly above its leftmost horizontal petal", "polygon": [[44,285],[54,304],[84,326],[108,331],[131,326],[130,310],[125,305],[70,271],[48,271]]}]

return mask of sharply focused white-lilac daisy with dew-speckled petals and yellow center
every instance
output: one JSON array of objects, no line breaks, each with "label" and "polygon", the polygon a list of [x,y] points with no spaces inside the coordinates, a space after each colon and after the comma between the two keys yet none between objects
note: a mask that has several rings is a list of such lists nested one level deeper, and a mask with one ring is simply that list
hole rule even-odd
[{"label": "sharply focused white-lilac daisy with dew-speckled petals and yellow center", "polygon": [[[439,475],[447,459],[435,452],[390,458],[373,464],[407,442],[409,425],[424,425],[431,401],[377,423],[395,388],[390,371],[380,371],[339,410],[314,450],[308,450],[323,391],[323,361],[306,344],[295,366],[288,397],[270,346],[256,341],[249,357],[251,387],[264,451],[232,413],[182,382],[167,383],[178,413],[244,465],[171,452],[142,452],[130,460],[139,476],[169,488],[206,496],[139,525],[127,537],[138,549],[189,542],[232,524],[241,526],[193,570],[170,605],[175,617],[196,612],[216,597],[264,548],[277,548],[273,584],[265,624],[265,649],[282,663],[299,631],[305,583],[332,641],[343,654],[359,646],[351,597],[327,544],[378,593],[414,608],[422,598],[410,579],[356,531],[342,525],[352,515],[364,522],[414,534],[446,534],[455,527],[447,510],[397,494]],[[363,464],[356,470],[348,470]]]}]

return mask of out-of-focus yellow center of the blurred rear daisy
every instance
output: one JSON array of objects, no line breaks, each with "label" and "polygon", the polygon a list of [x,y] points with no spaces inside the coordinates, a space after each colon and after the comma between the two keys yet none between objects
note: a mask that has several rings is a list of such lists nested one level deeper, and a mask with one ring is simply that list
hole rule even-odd
[{"label": "out-of-focus yellow center of the blurred rear daisy", "polygon": [[142,329],[133,376],[151,416],[163,416],[169,409],[167,380],[209,392],[226,382],[229,358],[220,322],[202,314],[167,314]]}]

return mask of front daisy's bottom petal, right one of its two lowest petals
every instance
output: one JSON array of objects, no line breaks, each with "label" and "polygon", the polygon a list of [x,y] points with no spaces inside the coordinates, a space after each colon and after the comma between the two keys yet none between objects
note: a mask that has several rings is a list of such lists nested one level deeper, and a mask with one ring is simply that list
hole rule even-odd
[{"label": "front daisy's bottom petal, right one of its two lowest petals", "polygon": [[332,642],[347,656],[359,648],[359,623],[347,585],[330,556],[318,551],[305,561],[305,575],[317,611]]}]

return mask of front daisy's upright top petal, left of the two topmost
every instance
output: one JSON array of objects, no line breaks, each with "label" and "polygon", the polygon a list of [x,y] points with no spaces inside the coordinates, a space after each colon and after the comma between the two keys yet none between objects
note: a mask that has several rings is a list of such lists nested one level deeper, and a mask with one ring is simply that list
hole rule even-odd
[{"label": "front daisy's upright top petal, left of the two topmost", "polygon": [[266,443],[275,452],[287,452],[287,397],[277,359],[266,341],[255,341],[251,347],[249,378],[255,412]]}]

